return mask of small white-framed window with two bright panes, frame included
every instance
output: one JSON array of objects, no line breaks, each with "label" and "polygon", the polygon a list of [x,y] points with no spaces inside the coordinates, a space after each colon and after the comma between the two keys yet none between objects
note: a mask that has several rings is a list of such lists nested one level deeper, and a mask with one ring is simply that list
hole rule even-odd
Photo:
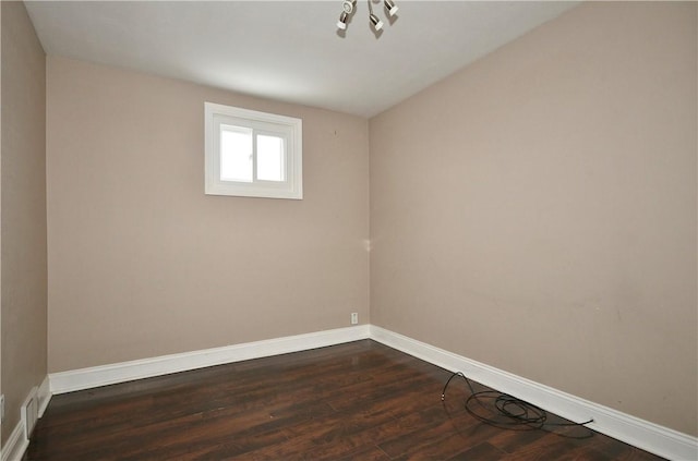
[{"label": "small white-framed window with two bright panes, frame included", "polygon": [[208,195],[303,198],[302,121],[205,102]]}]

